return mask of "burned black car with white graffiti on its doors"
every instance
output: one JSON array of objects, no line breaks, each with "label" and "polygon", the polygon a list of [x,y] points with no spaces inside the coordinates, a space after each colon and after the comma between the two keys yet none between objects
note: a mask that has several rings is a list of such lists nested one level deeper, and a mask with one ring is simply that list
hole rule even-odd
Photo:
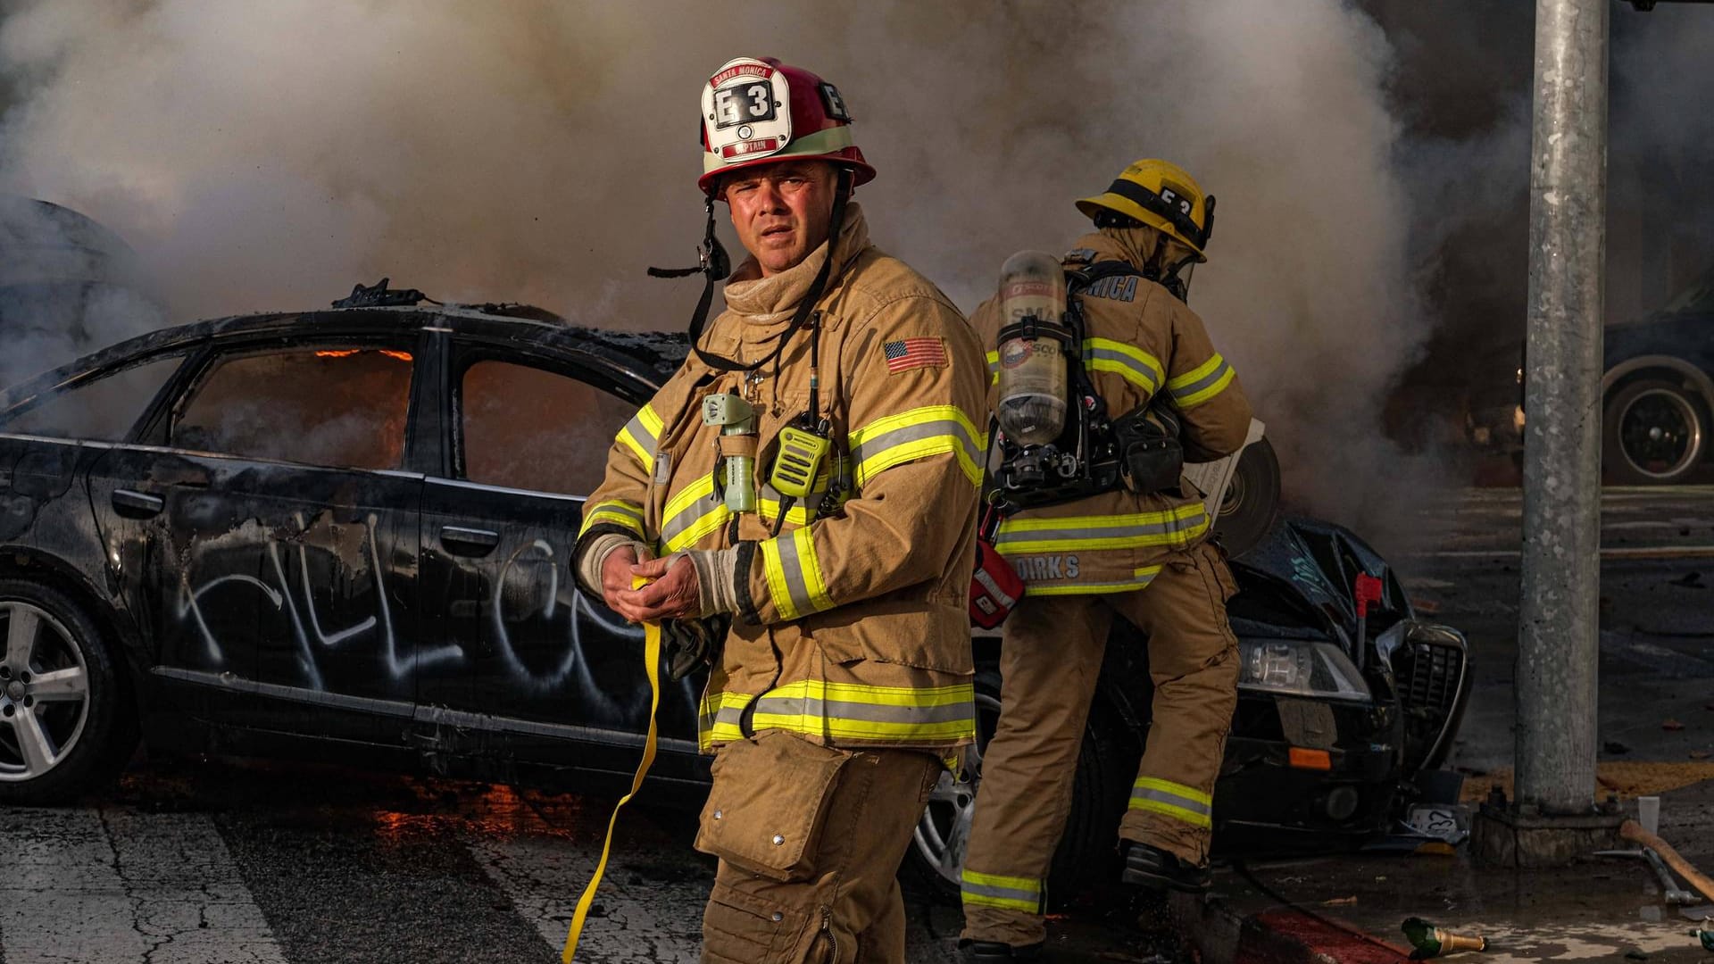
[{"label": "burned black car with white graffiti on its doors", "polygon": [[[682,336],[518,305],[228,317],[0,396],[0,803],[110,779],[137,736],[576,787],[629,779],[641,631],[572,585],[583,496]],[[1462,636],[1385,561],[1289,520],[1234,561],[1243,691],[1217,839],[1361,839],[1443,756]],[[1357,638],[1351,587],[1383,580]],[[1130,631],[1128,626],[1116,630]],[[1099,866],[1148,720],[1145,650],[1109,647],[1063,866]],[[998,640],[977,638],[984,738]],[[692,676],[663,693],[655,799],[699,803]],[[956,885],[974,782],[915,859]]]}]

